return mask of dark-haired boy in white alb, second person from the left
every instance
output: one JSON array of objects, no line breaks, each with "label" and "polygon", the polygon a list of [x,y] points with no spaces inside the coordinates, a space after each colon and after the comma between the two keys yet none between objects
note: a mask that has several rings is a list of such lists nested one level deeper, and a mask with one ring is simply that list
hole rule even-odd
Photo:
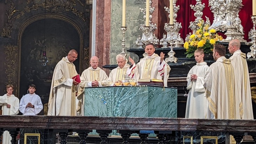
[{"label": "dark-haired boy in white alb, second person from the left", "polygon": [[29,94],[22,96],[20,100],[20,112],[23,115],[37,115],[43,109],[41,98],[35,94],[36,86],[29,84]]}]

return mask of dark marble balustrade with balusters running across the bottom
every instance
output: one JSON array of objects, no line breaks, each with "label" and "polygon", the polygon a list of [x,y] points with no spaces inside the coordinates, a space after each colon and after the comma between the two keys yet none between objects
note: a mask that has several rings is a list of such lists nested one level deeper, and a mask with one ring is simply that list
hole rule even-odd
[{"label": "dark marble balustrade with balusters running across the bottom", "polygon": [[[245,135],[250,135],[256,140],[255,120],[231,120],[231,119],[186,119],[186,118],[147,118],[147,117],[95,117],[95,116],[0,116],[0,130],[9,130],[13,139],[17,132],[23,129],[41,129],[45,136],[41,137],[40,144],[55,143],[56,133],[61,137],[61,143],[66,143],[68,132],[78,132],[81,144],[92,129],[100,133],[102,144],[107,140],[111,130],[116,129],[122,134],[123,142],[129,142],[131,133],[138,133],[142,144],[148,141],[148,134],[157,134],[159,144],[183,144],[207,143],[208,139],[216,139],[218,144],[224,144],[222,136],[215,135],[221,132],[223,135],[233,135],[239,144]],[[176,133],[190,133],[177,136]],[[207,135],[193,137],[193,133]],[[53,137],[53,138],[51,138]],[[120,137],[120,138],[121,138]],[[105,143],[106,142],[106,143]],[[127,143],[126,143],[127,144]]]}]

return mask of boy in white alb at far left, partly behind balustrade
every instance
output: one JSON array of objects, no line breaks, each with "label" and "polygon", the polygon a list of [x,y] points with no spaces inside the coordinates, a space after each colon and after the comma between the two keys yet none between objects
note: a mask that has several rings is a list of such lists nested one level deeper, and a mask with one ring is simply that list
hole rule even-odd
[{"label": "boy in white alb at far left, partly behind balustrade", "polygon": [[[0,96],[0,106],[2,106],[2,115],[17,115],[19,113],[19,98],[13,93],[13,85],[6,85],[7,94]],[[9,131],[4,131],[2,144],[11,144],[12,137]]]}]

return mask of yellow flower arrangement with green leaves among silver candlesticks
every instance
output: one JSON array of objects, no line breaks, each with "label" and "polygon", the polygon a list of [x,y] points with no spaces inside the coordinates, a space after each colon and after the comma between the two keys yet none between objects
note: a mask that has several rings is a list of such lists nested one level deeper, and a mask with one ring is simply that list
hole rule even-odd
[{"label": "yellow flower arrangement with green leaves among silver candlesticks", "polygon": [[199,29],[194,34],[189,33],[183,46],[186,49],[186,57],[189,58],[194,56],[194,52],[198,48],[203,49],[204,53],[213,52],[214,44],[223,39],[216,33],[215,29],[209,30],[209,24],[205,23],[204,20],[199,21],[197,26]]}]

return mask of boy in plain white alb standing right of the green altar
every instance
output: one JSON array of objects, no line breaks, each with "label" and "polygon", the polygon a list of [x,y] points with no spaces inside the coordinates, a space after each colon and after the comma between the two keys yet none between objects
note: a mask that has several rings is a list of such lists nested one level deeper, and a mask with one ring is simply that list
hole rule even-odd
[{"label": "boy in plain white alb standing right of the green altar", "polygon": [[185,118],[206,118],[207,99],[203,87],[203,78],[209,66],[203,61],[203,49],[197,49],[194,55],[197,63],[189,70],[187,76],[187,90],[189,90],[189,93]]}]

